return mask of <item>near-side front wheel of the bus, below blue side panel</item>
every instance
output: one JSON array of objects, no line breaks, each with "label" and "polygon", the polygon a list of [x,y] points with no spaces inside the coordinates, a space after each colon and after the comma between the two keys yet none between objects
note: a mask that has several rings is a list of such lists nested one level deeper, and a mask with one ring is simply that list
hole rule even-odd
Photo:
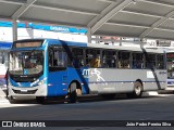
[{"label": "near-side front wheel of the bus, below blue side panel", "polygon": [[77,92],[76,92],[77,84],[75,82],[71,83],[70,86],[70,102],[75,103],[77,101]]}]

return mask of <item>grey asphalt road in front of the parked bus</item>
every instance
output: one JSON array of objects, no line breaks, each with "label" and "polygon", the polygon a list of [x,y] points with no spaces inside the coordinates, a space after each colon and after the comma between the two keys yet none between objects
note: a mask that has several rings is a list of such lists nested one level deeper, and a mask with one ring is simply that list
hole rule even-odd
[{"label": "grey asphalt road in front of the parked bus", "polygon": [[[0,120],[66,120],[54,123],[57,126],[58,123],[63,123],[62,129],[67,129],[65,126],[70,126],[74,130],[95,129],[96,127],[96,129],[99,129],[98,127],[104,129],[104,126],[110,126],[108,120],[113,120],[110,122],[111,126],[112,123],[117,123],[115,127],[120,125],[124,127],[126,126],[125,123],[134,123],[136,121],[153,122],[153,120],[164,120],[170,123],[171,120],[174,120],[174,95],[144,96],[141,99],[127,99],[119,95],[110,101],[95,96],[82,98],[75,104],[48,101],[46,105],[36,104],[35,101],[20,101],[15,104],[1,104]],[[73,122],[72,120],[85,121]],[[85,125],[83,126],[84,122]],[[72,123],[75,123],[75,127],[80,127],[80,129],[75,128]],[[94,126],[88,126],[88,123],[94,123]],[[134,127],[129,128],[133,129]],[[144,128],[138,127],[134,129],[141,130]],[[160,129],[164,127],[160,127]],[[112,129],[112,127],[108,129]],[[167,129],[172,128],[167,127]]]}]

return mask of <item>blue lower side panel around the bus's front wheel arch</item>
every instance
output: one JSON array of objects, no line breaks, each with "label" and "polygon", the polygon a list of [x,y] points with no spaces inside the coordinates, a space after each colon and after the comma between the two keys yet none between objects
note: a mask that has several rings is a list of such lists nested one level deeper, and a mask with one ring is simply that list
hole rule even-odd
[{"label": "blue lower side panel around the bus's front wheel arch", "polygon": [[51,72],[48,74],[48,96],[66,95],[72,81],[82,84],[83,94],[88,93],[88,79],[83,76],[84,68],[75,69],[67,67],[65,70]]}]

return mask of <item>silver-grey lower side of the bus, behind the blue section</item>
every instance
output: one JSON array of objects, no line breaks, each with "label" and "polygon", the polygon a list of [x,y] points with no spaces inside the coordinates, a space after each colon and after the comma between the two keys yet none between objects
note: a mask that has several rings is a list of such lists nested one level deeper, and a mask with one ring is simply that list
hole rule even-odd
[{"label": "silver-grey lower side of the bus, behind the blue section", "polygon": [[134,82],[141,80],[144,91],[165,89],[166,70],[90,68],[90,93],[132,92]]}]

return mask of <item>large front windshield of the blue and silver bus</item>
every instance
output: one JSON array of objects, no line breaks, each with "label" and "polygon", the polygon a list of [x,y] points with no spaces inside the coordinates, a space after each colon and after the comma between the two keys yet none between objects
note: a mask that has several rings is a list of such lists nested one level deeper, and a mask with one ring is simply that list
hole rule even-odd
[{"label": "large front windshield of the blue and silver bus", "polygon": [[10,52],[9,73],[12,75],[35,75],[42,72],[44,52],[40,50]]}]

